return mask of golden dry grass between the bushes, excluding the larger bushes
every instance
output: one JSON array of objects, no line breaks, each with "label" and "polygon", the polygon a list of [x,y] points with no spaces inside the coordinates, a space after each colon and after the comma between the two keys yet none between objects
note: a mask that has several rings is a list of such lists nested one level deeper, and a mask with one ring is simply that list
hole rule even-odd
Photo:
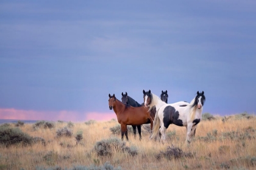
[{"label": "golden dry grass between the bushes, excluding the larger bushes", "polygon": [[[55,123],[52,129],[33,129],[33,124],[20,126],[21,131],[32,137],[46,141],[31,146],[10,146],[0,149],[0,169],[71,169],[74,166],[102,166],[109,161],[121,169],[255,169],[256,168],[256,118],[229,118],[222,121],[201,121],[196,130],[196,138],[190,146],[185,146],[185,127],[171,125],[168,132],[175,131],[165,144],[149,141],[149,133],[142,133],[142,140],[129,133],[126,146],[135,146],[137,155],[116,151],[112,156],[98,156],[93,151],[97,141],[108,138],[121,138],[113,135],[110,127],[117,121],[74,123],[72,137],[57,137],[57,130],[68,123]],[[12,124],[15,127],[15,124]],[[82,140],[76,144],[76,133],[82,131]],[[233,134],[232,134],[233,132]],[[230,136],[229,136],[230,135]],[[233,136],[231,136],[233,135]],[[166,148],[174,146],[193,157],[158,158]],[[38,168],[39,167],[39,168]]]}]

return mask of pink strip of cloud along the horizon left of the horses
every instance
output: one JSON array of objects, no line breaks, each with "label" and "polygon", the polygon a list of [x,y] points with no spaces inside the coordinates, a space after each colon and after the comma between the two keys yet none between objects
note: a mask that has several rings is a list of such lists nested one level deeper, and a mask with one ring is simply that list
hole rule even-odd
[{"label": "pink strip of cloud along the horizon left of the horses", "polygon": [[39,111],[0,108],[0,119],[49,121],[63,120],[82,122],[87,120],[108,121],[112,118],[116,119],[115,113],[77,112],[70,110]]}]

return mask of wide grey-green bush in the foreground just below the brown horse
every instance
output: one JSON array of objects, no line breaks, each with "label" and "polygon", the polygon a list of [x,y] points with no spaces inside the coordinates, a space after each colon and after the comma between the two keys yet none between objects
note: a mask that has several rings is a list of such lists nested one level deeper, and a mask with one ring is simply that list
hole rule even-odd
[{"label": "wide grey-green bush in the foreground just below the brown horse", "polygon": [[105,140],[97,141],[93,149],[99,156],[112,156],[114,152],[128,152],[131,155],[137,155],[137,148],[126,146],[124,141],[119,138],[108,138]]}]

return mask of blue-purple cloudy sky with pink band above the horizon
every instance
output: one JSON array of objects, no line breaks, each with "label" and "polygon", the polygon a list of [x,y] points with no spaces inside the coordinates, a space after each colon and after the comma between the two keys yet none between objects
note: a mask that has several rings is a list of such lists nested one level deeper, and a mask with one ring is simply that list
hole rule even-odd
[{"label": "blue-purple cloudy sky with pink band above the horizon", "polygon": [[0,1],[0,119],[111,120],[108,94],[256,111],[256,1]]}]

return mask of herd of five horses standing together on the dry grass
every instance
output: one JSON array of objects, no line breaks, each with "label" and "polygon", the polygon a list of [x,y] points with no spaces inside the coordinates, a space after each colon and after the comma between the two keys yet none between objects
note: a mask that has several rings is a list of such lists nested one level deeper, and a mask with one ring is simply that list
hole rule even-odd
[{"label": "herd of five horses standing together on the dry grass", "polygon": [[141,140],[141,124],[151,124],[150,139],[160,138],[163,143],[166,139],[166,129],[169,124],[177,126],[185,126],[187,128],[186,143],[190,143],[196,134],[197,124],[202,119],[202,109],[205,103],[204,91],[197,91],[196,97],[188,103],[187,101],[179,101],[168,104],[167,90],[158,97],[151,93],[151,90],[145,92],[143,90],[143,103],[138,103],[122,92],[122,101],[119,101],[115,94],[108,94],[108,106],[110,110],[114,110],[118,123],[121,124],[121,140],[127,134],[127,125],[133,128],[133,134],[136,135],[136,127]]}]

